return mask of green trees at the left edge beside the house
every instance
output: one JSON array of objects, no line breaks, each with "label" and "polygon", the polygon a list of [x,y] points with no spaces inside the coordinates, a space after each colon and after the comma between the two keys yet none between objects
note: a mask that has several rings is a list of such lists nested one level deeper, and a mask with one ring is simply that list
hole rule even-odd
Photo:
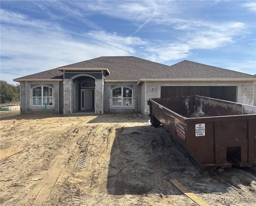
[{"label": "green trees at the left edge beside the house", "polygon": [[1,104],[7,102],[20,101],[20,87],[19,85],[12,85],[6,81],[0,80],[0,102]]}]

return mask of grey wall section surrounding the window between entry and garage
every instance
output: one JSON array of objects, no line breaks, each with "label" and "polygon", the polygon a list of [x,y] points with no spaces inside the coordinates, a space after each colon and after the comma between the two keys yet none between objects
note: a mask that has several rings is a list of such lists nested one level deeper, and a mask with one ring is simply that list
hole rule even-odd
[{"label": "grey wall section surrounding the window between entry and garage", "polygon": [[[111,88],[116,86],[129,86],[133,88],[133,107],[111,107]],[[104,111],[113,113],[133,113],[140,112],[140,86],[135,82],[105,82],[104,84]]]}]

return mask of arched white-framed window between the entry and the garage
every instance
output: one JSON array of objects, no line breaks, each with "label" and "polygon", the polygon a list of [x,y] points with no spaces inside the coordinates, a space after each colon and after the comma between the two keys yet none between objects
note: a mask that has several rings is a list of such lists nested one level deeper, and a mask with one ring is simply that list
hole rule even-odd
[{"label": "arched white-framed window between the entry and the garage", "polygon": [[111,89],[111,106],[132,107],[133,89],[127,86],[114,87]]}]

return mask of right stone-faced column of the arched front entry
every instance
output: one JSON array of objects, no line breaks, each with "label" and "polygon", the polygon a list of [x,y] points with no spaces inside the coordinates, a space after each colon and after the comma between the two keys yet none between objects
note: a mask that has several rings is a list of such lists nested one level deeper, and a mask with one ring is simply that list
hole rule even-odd
[{"label": "right stone-faced column of the arched front entry", "polygon": [[95,114],[103,114],[103,79],[95,80]]}]

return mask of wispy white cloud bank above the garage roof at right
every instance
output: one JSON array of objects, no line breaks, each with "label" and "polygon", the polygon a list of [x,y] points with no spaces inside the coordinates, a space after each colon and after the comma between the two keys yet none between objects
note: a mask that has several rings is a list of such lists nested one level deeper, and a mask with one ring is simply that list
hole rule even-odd
[{"label": "wispy white cloud bank above the garage roof at right", "polygon": [[209,24],[209,27],[198,29],[198,31],[192,29],[186,35],[180,36],[176,42],[162,41],[157,46],[156,44],[147,45],[146,50],[150,53],[148,58],[152,61],[167,62],[187,58],[193,54],[194,49],[220,48],[246,34],[244,28],[245,25],[241,22],[228,22],[219,25]]}]

